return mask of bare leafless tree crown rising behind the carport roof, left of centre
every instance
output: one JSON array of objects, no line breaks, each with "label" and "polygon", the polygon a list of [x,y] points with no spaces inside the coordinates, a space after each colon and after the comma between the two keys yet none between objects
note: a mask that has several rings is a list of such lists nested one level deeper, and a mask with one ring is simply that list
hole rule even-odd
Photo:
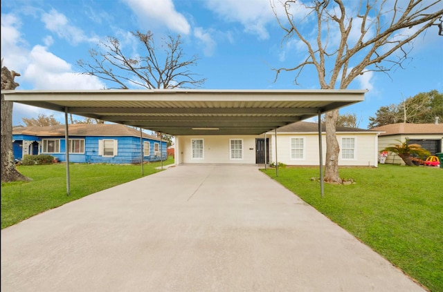
[{"label": "bare leafless tree crown rising behind the carport roof, left of centre", "polygon": [[109,89],[129,89],[132,87],[154,88],[190,88],[204,84],[206,79],[197,79],[197,75],[188,68],[197,65],[197,56],[185,60],[181,48],[181,37],[163,39],[163,52],[157,50],[154,35],[136,31],[132,35],[141,42],[146,51],[145,56],[128,57],[123,52],[120,41],[116,37],[107,37],[100,41],[101,50],[90,50],[89,55],[93,62],[77,61],[78,66],[84,69],[82,74],[93,75],[116,84]]}]

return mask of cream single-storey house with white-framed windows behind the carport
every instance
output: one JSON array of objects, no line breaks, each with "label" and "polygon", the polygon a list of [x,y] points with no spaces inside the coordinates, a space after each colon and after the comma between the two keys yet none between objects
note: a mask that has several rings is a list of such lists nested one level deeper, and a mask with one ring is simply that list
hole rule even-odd
[{"label": "cream single-storey house with white-framed windows behind the carport", "polygon": [[[360,128],[337,127],[340,166],[377,166],[379,132]],[[272,164],[318,166],[318,124],[298,121],[265,135],[186,135],[177,136],[176,164]],[[326,139],[323,131],[323,157]],[[275,151],[277,149],[277,151]],[[275,157],[277,153],[277,157]]]}]

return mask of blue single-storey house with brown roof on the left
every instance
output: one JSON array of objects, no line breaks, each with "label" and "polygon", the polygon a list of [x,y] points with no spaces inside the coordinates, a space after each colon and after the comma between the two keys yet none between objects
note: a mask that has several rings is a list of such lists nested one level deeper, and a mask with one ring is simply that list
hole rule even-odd
[{"label": "blue single-storey house with brown roof on the left", "polygon": [[[71,124],[69,162],[139,164],[167,158],[167,142],[121,124]],[[48,154],[66,162],[65,126],[12,128],[16,159],[24,155]]]}]

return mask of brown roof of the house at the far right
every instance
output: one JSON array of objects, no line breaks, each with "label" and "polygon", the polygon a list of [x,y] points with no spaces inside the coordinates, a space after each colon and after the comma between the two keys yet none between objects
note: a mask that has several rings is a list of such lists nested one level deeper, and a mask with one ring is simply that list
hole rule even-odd
[{"label": "brown roof of the house at the far right", "polygon": [[388,124],[372,130],[384,131],[380,136],[398,134],[443,134],[443,124]]}]

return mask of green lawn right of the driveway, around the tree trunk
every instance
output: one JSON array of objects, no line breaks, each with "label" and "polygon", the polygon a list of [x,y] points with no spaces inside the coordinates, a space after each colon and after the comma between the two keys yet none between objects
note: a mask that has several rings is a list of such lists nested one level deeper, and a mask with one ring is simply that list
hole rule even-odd
[{"label": "green lawn right of the driveway, around the tree trunk", "polygon": [[[443,291],[443,169],[341,168],[356,184],[325,184],[318,168],[264,171],[431,291]],[[325,242],[327,249],[327,242]]]}]

